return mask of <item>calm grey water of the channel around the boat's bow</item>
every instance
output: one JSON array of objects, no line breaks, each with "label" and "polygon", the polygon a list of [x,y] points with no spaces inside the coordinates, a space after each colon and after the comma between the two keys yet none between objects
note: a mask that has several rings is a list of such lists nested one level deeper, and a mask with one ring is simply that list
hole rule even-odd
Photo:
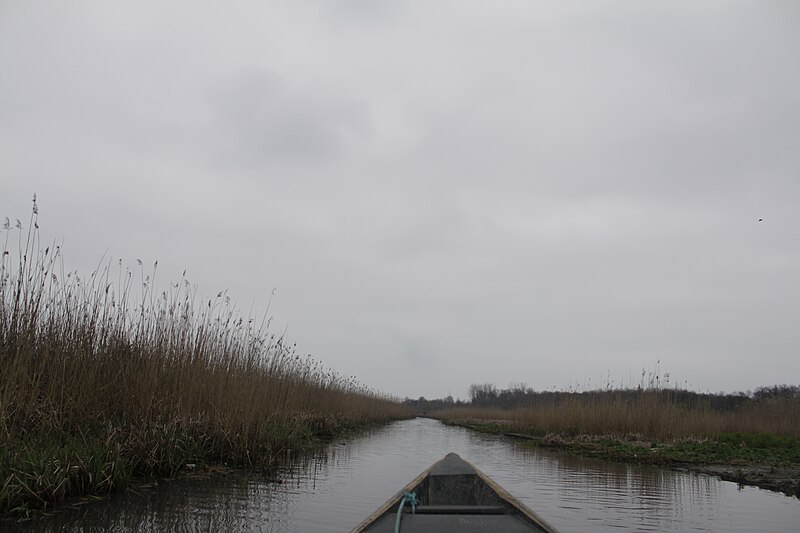
[{"label": "calm grey water of the channel around the boat's bow", "polygon": [[37,531],[348,531],[447,452],[560,530],[800,531],[800,500],[717,478],[576,459],[437,421],[397,422],[285,472],[176,480],[27,524]]}]

